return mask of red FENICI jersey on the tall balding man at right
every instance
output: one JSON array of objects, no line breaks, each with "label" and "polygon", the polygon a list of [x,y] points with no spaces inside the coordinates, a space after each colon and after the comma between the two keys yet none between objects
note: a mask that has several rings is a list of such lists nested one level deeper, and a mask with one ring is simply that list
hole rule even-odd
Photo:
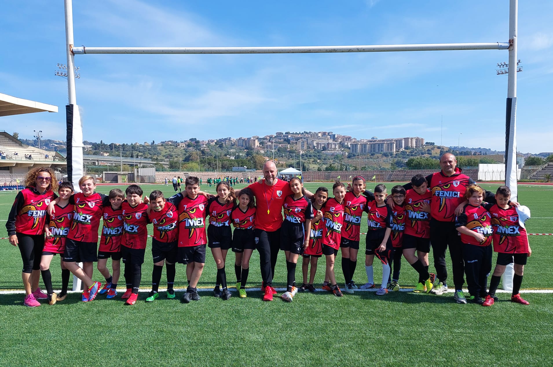
[{"label": "red FENICI jersey on the tall balding man at right", "polygon": [[456,168],[453,176],[445,176],[442,171],[432,174],[430,203],[432,218],[440,222],[454,222],[455,209],[465,202],[465,191],[473,181],[461,169]]}]

